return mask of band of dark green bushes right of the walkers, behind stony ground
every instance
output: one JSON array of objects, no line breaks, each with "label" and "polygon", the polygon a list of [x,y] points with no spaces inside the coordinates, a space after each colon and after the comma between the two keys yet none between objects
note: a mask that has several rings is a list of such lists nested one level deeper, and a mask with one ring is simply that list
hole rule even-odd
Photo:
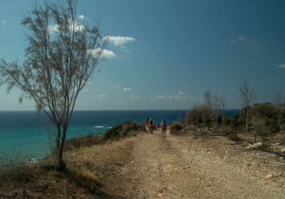
[{"label": "band of dark green bushes right of the walkers, behind stony ground", "polygon": [[[254,104],[252,107],[244,107],[239,114],[229,117],[227,114],[219,115],[217,121],[212,109],[205,105],[195,106],[187,113],[186,126],[221,131],[224,135],[251,134],[254,142],[258,138],[273,136],[284,130],[285,105],[269,102]],[[214,127],[214,129],[213,129]]]}]

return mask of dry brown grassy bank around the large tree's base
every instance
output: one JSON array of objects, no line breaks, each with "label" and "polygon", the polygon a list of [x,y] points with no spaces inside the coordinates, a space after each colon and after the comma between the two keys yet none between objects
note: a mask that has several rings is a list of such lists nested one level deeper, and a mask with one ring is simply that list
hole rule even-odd
[{"label": "dry brown grassy bank around the large tree's base", "polygon": [[110,189],[117,183],[110,182],[129,161],[128,140],[68,151],[68,166],[62,172],[52,158],[10,170],[8,165],[1,167],[0,198],[123,198]]}]

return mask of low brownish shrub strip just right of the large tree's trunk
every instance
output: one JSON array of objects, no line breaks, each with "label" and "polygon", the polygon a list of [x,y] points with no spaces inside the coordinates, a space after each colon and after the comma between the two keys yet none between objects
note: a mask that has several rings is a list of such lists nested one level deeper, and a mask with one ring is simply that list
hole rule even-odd
[{"label": "low brownish shrub strip just right of the large tree's trunk", "polygon": [[87,134],[86,136],[77,136],[66,140],[65,151],[71,151],[81,147],[92,146],[100,142],[100,136],[97,134]]}]

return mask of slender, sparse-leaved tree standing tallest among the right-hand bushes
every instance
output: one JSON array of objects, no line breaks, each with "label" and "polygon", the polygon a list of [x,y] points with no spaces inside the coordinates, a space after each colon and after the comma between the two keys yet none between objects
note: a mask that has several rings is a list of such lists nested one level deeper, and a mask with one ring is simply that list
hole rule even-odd
[{"label": "slender, sparse-leaved tree standing tallest among the right-hand bushes", "polygon": [[243,99],[243,106],[246,109],[246,127],[245,131],[248,131],[248,124],[249,124],[249,108],[251,107],[252,103],[256,99],[256,94],[254,90],[249,87],[249,82],[244,80],[242,85],[239,86],[239,91],[241,92],[242,99]]}]

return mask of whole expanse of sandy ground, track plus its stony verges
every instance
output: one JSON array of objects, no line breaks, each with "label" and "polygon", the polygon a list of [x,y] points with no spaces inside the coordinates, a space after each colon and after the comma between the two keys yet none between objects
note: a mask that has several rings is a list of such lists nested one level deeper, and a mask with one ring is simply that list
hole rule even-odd
[{"label": "whole expanse of sandy ground, track plus its stony verges", "polygon": [[285,198],[284,160],[226,137],[155,131],[77,155],[86,154],[110,198]]}]

